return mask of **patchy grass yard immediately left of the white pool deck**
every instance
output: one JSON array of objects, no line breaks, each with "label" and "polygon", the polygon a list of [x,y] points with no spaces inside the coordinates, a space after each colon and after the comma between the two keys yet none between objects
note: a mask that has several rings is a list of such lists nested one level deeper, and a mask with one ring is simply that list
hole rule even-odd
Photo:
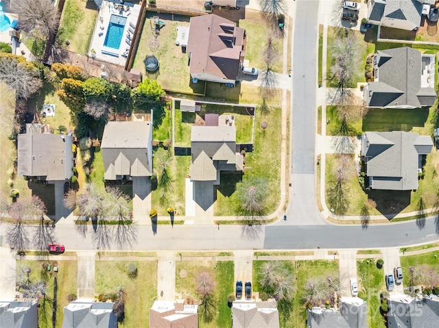
[{"label": "patchy grass yard immediately left of the white pool deck", "polygon": [[62,10],[57,41],[65,45],[66,40],[69,40],[70,45],[67,49],[86,55],[97,14],[98,11],[93,1],[67,0]]}]

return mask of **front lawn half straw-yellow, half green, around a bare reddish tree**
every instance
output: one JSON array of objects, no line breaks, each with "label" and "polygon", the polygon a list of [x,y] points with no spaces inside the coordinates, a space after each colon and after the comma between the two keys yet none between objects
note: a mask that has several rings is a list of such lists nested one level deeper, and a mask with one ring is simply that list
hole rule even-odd
[{"label": "front lawn half straw-yellow, half green, around a bare reddish tree", "polygon": [[176,292],[182,298],[187,296],[198,299],[195,291],[195,277],[206,271],[214,278],[215,287],[215,315],[211,323],[205,323],[199,318],[200,328],[229,327],[231,310],[227,305],[227,297],[233,294],[235,264],[233,261],[197,261],[176,262]]}]

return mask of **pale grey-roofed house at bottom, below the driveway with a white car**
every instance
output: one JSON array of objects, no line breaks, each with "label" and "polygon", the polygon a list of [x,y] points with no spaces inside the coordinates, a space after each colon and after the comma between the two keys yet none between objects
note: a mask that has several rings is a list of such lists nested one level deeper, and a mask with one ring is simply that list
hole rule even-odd
[{"label": "pale grey-roofed house at bottom, below the driveway with a white car", "polygon": [[367,328],[366,302],[359,297],[342,297],[340,311],[331,307],[312,307],[308,310],[308,328]]}]

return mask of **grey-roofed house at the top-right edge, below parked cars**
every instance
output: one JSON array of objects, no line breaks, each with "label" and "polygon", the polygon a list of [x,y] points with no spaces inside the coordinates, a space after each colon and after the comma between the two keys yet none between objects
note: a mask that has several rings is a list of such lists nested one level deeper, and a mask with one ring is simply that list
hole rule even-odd
[{"label": "grey-roofed house at the top-right edge, below parked cars", "polygon": [[434,0],[370,0],[366,17],[373,25],[412,31],[420,26],[424,4]]}]

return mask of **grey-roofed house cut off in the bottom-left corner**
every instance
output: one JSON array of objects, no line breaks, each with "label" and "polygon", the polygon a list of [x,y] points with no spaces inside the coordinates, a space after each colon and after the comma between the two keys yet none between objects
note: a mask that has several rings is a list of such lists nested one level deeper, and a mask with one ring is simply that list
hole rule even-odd
[{"label": "grey-roofed house cut off in the bottom-left corner", "polygon": [[0,301],[0,327],[38,328],[38,301]]}]

